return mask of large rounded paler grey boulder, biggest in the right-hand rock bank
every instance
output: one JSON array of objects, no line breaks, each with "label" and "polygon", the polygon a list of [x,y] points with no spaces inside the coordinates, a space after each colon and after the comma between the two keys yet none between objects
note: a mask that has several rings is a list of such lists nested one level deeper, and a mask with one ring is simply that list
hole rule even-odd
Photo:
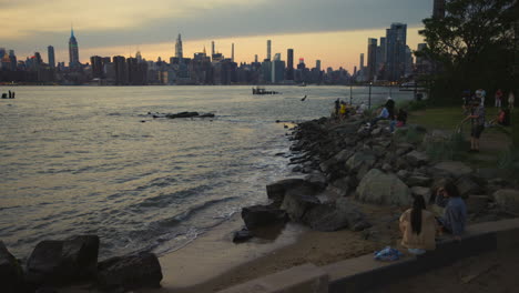
[{"label": "large rounded paler grey boulder, biggest in the right-hand rock bank", "polygon": [[376,204],[409,205],[411,192],[394,173],[372,169],[358,183],[356,196],[363,202]]}]

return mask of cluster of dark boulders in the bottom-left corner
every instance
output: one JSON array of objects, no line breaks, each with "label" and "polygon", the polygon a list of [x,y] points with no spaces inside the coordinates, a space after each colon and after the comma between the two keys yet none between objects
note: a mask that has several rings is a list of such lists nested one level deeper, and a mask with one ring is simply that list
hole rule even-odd
[{"label": "cluster of dark boulders in the bottom-left corner", "polygon": [[74,284],[109,292],[160,286],[162,272],[153,253],[98,262],[99,244],[96,235],[45,240],[38,243],[23,265],[0,242],[0,292],[57,292],[55,287]]}]

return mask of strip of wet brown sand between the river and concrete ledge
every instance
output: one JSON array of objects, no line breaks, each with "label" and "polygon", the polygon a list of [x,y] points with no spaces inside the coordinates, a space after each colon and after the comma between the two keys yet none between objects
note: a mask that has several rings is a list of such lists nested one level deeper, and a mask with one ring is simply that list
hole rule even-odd
[{"label": "strip of wet brown sand between the river and concrete ledge", "polygon": [[374,224],[364,232],[318,232],[288,223],[275,240],[253,239],[241,244],[232,242],[233,231],[243,225],[236,215],[190,245],[161,256],[162,289],[145,292],[216,292],[303,263],[325,265],[396,245],[401,209],[363,204],[363,210]]}]

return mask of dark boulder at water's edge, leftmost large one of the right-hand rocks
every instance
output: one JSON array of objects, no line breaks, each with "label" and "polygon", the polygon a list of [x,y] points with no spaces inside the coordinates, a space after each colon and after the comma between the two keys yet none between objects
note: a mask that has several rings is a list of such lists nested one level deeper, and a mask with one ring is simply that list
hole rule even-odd
[{"label": "dark boulder at water's edge, leftmost large one of the right-hand rocks", "polygon": [[248,230],[283,223],[287,220],[286,212],[274,205],[252,205],[242,209],[242,218]]}]

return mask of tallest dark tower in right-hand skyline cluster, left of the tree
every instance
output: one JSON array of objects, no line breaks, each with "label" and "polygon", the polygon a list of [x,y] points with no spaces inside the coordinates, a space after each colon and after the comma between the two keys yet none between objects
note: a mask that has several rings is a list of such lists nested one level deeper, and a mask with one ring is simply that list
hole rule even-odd
[{"label": "tallest dark tower in right-hand skyline cluster, left of the tree", "polygon": [[396,81],[400,79],[406,69],[406,40],[407,24],[391,23],[386,29],[386,79]]}]

